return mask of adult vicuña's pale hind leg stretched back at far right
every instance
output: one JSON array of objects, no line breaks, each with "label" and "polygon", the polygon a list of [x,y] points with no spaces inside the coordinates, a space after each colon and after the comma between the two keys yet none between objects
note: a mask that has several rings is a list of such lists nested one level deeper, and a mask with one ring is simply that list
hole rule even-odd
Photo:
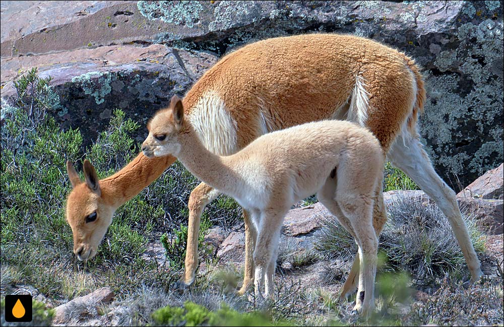
[{"label": "adult vicu\u00f1a's pale hind leg stretched back at far right", "polygon": [[447,216],[471,273],[477,281],[483,273],[467,227],[462,219],[455,192],[437,175],[420,141],[410,134],[401,136],[389,153],[394,166],[404,171]]}]

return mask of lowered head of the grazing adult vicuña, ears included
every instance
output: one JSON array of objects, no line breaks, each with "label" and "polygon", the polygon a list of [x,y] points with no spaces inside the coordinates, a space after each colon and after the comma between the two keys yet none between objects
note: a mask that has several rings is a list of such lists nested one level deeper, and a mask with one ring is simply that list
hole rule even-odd
[{"label": "lowered head of the grazing adult vicu\u00f1a, ears included", "polygon": [[74,253],[82,261],[96,255],[116,208],[102,197],[96,170],[88,160],[84,161],[84,182],[70,161],[67,172],[73,190],[68,197],[66,216],[74,234]]}]

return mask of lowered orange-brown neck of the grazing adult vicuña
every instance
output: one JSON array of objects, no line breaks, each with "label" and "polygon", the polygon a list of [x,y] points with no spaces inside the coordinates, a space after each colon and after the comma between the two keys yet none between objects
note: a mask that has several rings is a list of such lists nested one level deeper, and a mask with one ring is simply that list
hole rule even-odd
[{"label": "lowered orange-brown neck of the grazing adult vicu\u00f1a", "polygon": [[147,158],[141,152],[121,170],[100,180],[102,198],[115,208],[120,207],[156,180],[177,158]]}]

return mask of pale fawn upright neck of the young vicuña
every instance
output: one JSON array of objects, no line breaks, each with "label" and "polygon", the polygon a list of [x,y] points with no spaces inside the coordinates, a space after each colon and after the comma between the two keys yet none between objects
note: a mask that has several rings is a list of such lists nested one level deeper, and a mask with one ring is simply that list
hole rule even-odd
[{"label": "pale fawn upright neck of the young vicu\u00f1a", "polygon": [[186,123],[178,134],[180,153],[178,160],[193,175],[208,185],[227,194],[234,193],[236,174],[229,166],[228,158],[207,150],[196,135],[194,128]]}]

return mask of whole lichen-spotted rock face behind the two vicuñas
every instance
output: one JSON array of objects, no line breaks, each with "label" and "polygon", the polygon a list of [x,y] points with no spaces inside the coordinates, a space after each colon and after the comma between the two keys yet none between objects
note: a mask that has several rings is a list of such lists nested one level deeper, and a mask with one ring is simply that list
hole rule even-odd
[{"label": "whole lichen-spotted rock face behind the two vicu\u00f1as", "polygon": [[[467,185],[503,160],[502,1],[2,3],[2,97],[31,67],[54,77],[64,126],[92,138],[114,108],[143,122],[245,43],[311,32],[383,42],[423,67],[420,119],[436,170]],[[29,17],[29,19],[27,19]],[[143,136],[139,136],[142,138]]]}]

